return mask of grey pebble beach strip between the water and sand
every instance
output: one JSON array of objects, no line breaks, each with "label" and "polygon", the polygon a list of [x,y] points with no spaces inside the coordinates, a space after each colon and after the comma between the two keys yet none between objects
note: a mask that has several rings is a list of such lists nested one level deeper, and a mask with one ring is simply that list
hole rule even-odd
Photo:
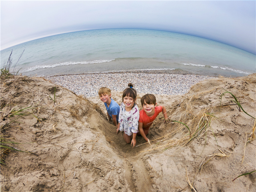
[{"label": "grey pebble beach strip between the water and sand", "polygon": [[73,74],[46,76],[46,80],[65,87],[77,95],[98,96],[100,87],[123,92],[132,83],[138,93],[180,95],[192,85],[216,76],[182,74],[177,71],[126,71],[111,73]]}]

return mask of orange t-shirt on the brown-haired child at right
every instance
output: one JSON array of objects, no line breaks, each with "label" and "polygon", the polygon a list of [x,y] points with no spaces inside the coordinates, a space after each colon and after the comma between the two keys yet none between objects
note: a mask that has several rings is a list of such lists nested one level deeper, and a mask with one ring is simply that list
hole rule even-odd
[{"label": "orange t-shirt on the brown-haired child at right", "polygon": [[[156,106],[155,107],[155,113],[152,117],[147,116],[146,112],[143,109],[140,110],[139,122],[143,124],[143,127],[148,125],[147,127],[143,128],[143,131],[144,131],[145,135],[148,134],[150,125],[156,119],[158,114],[162,112],[162,110],[163,110],[162,106]],[[140,133],[137,133],[137,135],[140,135]]]}]

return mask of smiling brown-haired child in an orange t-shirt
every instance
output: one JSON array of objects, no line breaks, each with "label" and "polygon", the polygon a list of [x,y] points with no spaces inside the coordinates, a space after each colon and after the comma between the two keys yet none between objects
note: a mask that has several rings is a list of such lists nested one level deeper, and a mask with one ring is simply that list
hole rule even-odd
[{"label": "smiling brown-haired child in an orange t-shirt", "polygon": [[168,116],[166,113],[166,108],[163,105],[156,106],[156,97],[153,94],[146,94],[140,99],[142,110],[140,110],[140,119],[139,119],[139,131],[138,135],[141,135],[147,142],[147,134],[149,131],[150,125],[156,119],[157,115],[162,112],[164,114],[165,121],[168,121]]}]

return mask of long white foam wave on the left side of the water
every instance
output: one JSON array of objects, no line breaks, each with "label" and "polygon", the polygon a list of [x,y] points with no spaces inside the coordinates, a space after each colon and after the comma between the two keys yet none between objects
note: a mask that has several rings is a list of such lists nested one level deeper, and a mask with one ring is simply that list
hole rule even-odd
[{"label": "long white foam wave on the left side of the water", "polygon": [[29,72],[29,71],[34,71],[36,69],[43,69],[43,68],[54,68],[54,67],[59,67],[59,66],[64,66],[64,65],[76,65],[76,64],[94,64],[94,63],[105,63],[105,62],[110,62],[113,61],[115,59],[112,60],[94,60],[94,61],[82,61],[82,62],[63,62],[63,63],[56,63],[53,65],[36,65],[34,67],[28,68],[23,70],[22,72]]}]

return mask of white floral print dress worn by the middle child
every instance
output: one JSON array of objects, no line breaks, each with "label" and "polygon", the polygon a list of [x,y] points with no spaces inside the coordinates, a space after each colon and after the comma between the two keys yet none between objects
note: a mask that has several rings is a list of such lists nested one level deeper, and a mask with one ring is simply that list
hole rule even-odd
[{"label": "white floral print dress worn by the middle child", "polygon": [[137,104],[135,104],[135,106],[132,108],[131,111],[126,111],[124,103],[123,102],[121,103],[119,119],[118,119],[118,123],[120,123],[120,127],[119,127],[120,131],[124,131],[124,133],[129,136],[131,136],[132,133],[139,132],[138,130],[139,118],[140,118],[140,112]]}]

